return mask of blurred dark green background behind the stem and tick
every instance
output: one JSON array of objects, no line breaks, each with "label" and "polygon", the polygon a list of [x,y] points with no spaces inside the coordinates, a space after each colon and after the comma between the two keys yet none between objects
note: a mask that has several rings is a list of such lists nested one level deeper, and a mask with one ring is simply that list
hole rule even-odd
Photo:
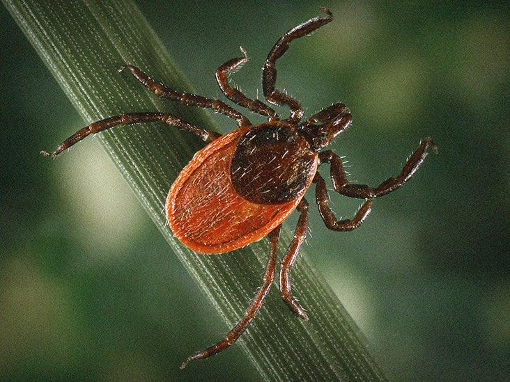
[{"label": "blurred dark green background behind the stem and tick", "polygon": [[[240,45],[250,61],[233,80],[256,97],[279,35],[330,7],[334,22],[279,61],[278,85],[307,116],[350,107],[332,145],[350,181],[395,175],[424,136],[440,152],[355,232],[328,231],[312,208],[304,250],[391,379],[508,379],[507,3],[137,4],[208,97]],[[97,141],[38,154],[84,122],[3,7],[0,24],[0,379],[257,380],[238,347],[178,369],[179,344],[202,349],[228,328]],[[359,201],[333,203],[352,216]]]}]

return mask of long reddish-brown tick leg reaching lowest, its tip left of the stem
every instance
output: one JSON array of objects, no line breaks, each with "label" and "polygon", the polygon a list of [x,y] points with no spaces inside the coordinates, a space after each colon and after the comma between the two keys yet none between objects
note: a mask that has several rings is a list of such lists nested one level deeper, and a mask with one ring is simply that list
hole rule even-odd
[{"label": "long reddish-brown tick leg reaching lowest, its tip left of the stem", "polygon": [[200,353],[194,354],[194,356],[190,356],[180,365],[181,369],[184,369],[188,363],[192,360],[201,360],[203,358],[209,358],[210,356],[214,356],[220,351],[225,350],[231,344],[238,340],[240,335],[245,331],[247,326],[252,319],[256,316],[259,310],[262,308],[262,304],[264,302],[265,296],[268,295],[269,289],[272,284],[272,280],[275,279],[275,269],[276,269],[276,260],[277,260],[277,249],[278,249],[278,241],[281,233],[281,225],[272,230],[269,234],[270,239],[270,250],[269,250],[269,259],[268,265],[265,267],[264,280],[260,289],[256,293],[252,303],[249,304],[248,309],[246,310],[245,317],[239,320],[238,324],[236,324],[229,333],[226,334],[226,337],[217,342],[216,344],[208,347],[207,349],[201,351]]}]

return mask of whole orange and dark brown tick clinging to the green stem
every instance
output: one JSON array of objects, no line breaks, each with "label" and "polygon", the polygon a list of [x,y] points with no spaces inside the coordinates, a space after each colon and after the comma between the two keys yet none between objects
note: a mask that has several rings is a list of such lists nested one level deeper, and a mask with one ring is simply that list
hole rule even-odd
[{"label": "whole orange and dark brown tick clinging to the green stem", "polygon": [[[291,245],[281,260],[279,290],[288,308],[298,317],[308,319],[291,293],[289,271],[307,234],[309,206],[304,193],[312,183],[315,184],[316,203],[326,227],[334,231],[352,231],[369,215],[374,198],[386,195],[407,182],[424,161],[429,147],[437,151],[431,138],[424,138],[396,177],[390,177],[376,187],[348,182],[341,158],[331,150],[323,149],[350,125],[353,118],[349,109],[341,103],[333,104],[301,122],[304,111],[300,102],[275,88],[276,61],[284,55],[291,41],[332,21],[332,13],[327,9],[324,11],[323,17],[309,19],[282,35],[263,65],[265,100],[276,106],[288,106],[288,118],[281,120],[267,103],[249,99],[229,84],[228,74],[247,61],[246,52],[241,48],[242,57],[233,58],[218,68],[217,83],[229,100],[265,116],[268,122],[252,125],[242,113],[220,100],[169,89],[138,67],[124,65],[120,70],[130,70],[155,95],[188,106],[212,109],[237,121],[238,128],[220,135],[169,113],[124,113],[93,122],[63,141],[54,152],[42,152],[45,156],[56,157],[88,134],[117,125],[160,121],[187,130],[208,144],[183,168],[169,191],[167,220],[175,236],[199,253],[226,253],[269,237],[269,258],[263,283],[245,316],[223,340],[190,356],[181,368],[191,360],[208,358],[229,347],[254,319],[275,278],[281,223],[295,209],[299,218]],[[364,200],[352,219],[337,220],[328,206],[330,198],[326,184],[317,172],[323,164],[330,164],[334,191]]]}]

